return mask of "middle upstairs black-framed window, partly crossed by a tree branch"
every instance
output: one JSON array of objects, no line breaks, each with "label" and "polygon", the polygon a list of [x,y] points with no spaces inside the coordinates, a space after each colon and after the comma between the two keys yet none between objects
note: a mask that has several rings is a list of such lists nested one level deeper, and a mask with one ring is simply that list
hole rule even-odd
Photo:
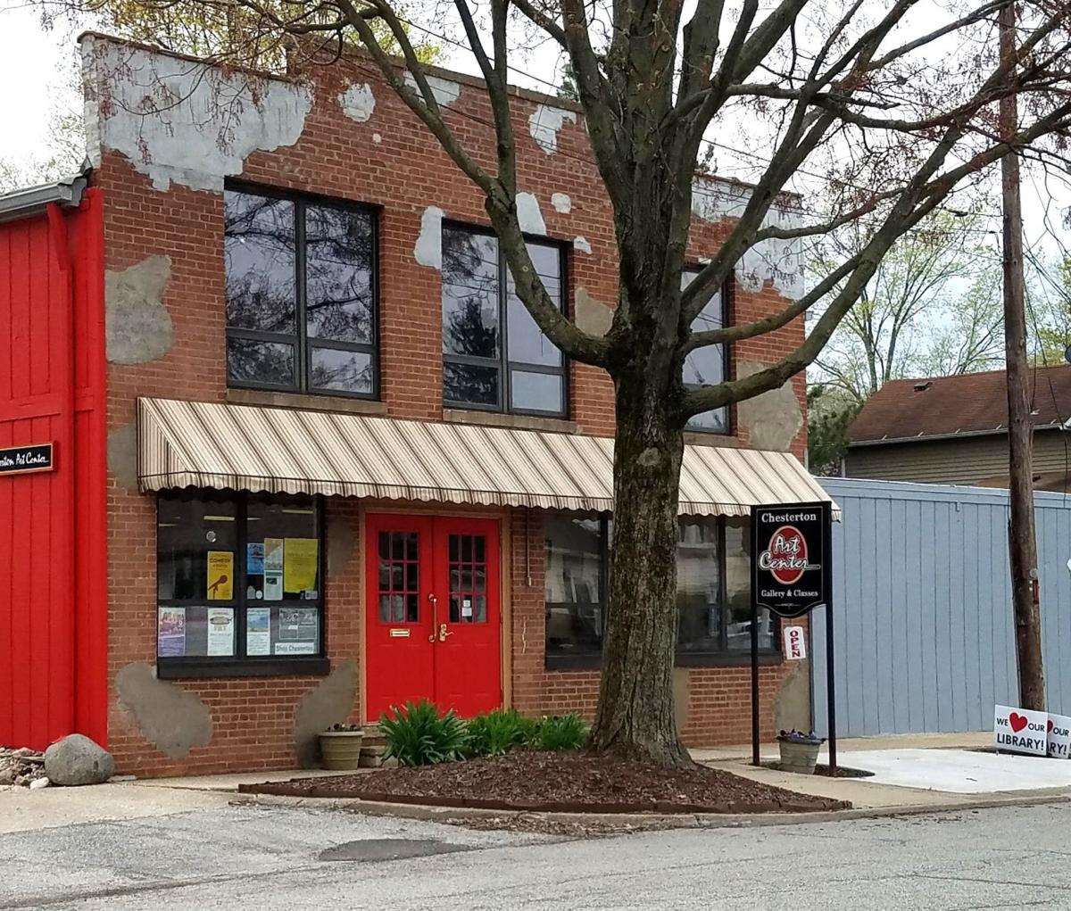
[{"label": "middle upstairs black-framed window, partly crossed by a tree branch", "polygon": [[[529,241],[543,285],[563,305],[562,250]],[[498,238],[442,229],[442,398],[448,406],[565,413],[565,364],[516,295]]]}]

